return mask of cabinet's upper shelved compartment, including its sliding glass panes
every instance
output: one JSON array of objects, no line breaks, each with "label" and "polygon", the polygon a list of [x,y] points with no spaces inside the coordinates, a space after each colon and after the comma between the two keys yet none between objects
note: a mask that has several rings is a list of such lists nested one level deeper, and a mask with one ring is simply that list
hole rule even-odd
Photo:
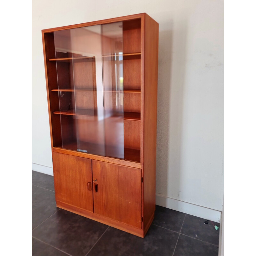
[{"label": "cabinet's upper shelved compartment, including its sliding glass panes", "polygon": [[[89,52],[84,39],[93,39]],[[49,32],[44,40],[53,147],[140,163],[141,19]]]}]

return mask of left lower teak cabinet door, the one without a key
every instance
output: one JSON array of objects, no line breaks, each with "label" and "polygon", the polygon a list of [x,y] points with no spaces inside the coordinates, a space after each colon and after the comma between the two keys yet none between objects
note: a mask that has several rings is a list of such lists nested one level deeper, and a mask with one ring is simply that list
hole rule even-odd
[{"label": "left lower teak cabinet door, the one without a key", "polygon": [[52,152],[55,199],[93,212],[92,160]]}]

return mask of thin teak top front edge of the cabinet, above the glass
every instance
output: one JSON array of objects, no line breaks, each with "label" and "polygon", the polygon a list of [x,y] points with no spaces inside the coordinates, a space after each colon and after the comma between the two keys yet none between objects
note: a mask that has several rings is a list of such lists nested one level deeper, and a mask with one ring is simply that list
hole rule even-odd
[{"label": "thin teak top front edge of the cabinet, above the glass", "polygon": [[111,22],[118,22],[118,21],[124,21],[124,20],[145,18],[146,15],[148,15],[148,14],[144,12],[144,13],[133,14],[133,15],[128,15],[128,16],[116,17],[116,18],[112,18],[112,19],[97,20],[97,21],[74,24],[74,25],[57,27],[57,28],[48,28],[48,29],[43,29],[42,33],[49,33],[49,32],[53,32],[53,31],[70,29],[70,28],[87,27],[87,26],[93,26],[93,25],[99,25],[99,24],[105,24],[105,23],[111,23]]}]

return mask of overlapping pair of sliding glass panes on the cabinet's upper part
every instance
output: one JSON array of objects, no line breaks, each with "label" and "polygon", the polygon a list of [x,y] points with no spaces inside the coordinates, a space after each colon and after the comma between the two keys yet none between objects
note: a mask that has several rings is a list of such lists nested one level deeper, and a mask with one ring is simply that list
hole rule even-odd
[{"label": "overlapping pair of sliding glass panes on the cabinet's upper part", "polygon": [[124,158],[122,22],[54,32],[62,148]]}]

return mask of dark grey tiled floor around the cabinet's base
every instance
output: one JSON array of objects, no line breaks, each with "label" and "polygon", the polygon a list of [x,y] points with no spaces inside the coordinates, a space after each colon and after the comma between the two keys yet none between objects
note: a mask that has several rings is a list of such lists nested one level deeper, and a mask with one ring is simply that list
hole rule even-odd
[{"label": "dark grey tiled floor around the cabinet's base", "polygon": [[56,207],[53,176],[32,171],[32,255],[218,255],[220,229],[204,221],[156,205],[147,235],[133,236]]}]

